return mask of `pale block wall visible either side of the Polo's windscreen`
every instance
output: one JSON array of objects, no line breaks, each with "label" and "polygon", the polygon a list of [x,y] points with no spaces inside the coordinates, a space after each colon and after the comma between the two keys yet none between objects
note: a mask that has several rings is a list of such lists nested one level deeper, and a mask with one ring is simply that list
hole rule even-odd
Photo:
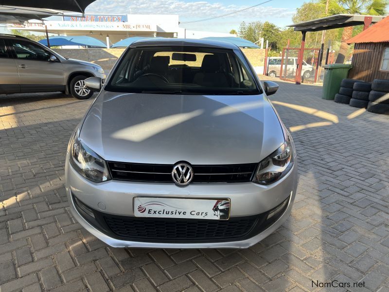
[{"label": "pale block wall visible either side of the Polo's windscreen", "polygon": [[[58,54],[83,61],[92,62],[103,67],[104,70],[111,70],[116,60],[122,55],[125,48],[112,49],[54,49]],[[263,73],[265,63],[265,49],[242,49],[251,65],[257,73]]]}]

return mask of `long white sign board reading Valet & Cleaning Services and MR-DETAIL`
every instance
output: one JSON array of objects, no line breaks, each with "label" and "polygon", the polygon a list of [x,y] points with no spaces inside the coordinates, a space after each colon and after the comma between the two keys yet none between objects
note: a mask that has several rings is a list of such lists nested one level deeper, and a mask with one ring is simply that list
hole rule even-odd
[{"label": "long white sign board reading Valet & Cleaning Services and MR-DETAIL", "polygon": [[149,23],[132,23],[132,22],[77,22],[77,21],[45,21],[42,23],[16,23],[12,28],[44,30],[102,30],[102,31],[139,31],[139,32],[156,32],[157,25]]}]

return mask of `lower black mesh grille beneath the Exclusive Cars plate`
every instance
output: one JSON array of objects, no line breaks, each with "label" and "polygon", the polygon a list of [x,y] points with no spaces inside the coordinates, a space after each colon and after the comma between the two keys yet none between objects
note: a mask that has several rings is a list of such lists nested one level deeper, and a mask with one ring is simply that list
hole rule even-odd
[{"label": "lower black mesh grille beneath the Exclusive Cars plate", "polygon": [[133,239],[230,239],[246,236],[258,216],[229,220],[137,219],[104,216],[111,231]]}]

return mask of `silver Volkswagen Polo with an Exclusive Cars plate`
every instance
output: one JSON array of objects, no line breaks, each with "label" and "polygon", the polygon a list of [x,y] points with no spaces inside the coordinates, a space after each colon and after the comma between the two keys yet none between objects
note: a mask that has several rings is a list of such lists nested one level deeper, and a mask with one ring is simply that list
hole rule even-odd
[{"label": "silver Volkswagen Polo with an Exclusive Cars plate", "polygon": [[75,129],[66,191],[75,219],[113,247],[247,248],[289,216],[292,138],[235,45],[134,42]]}]

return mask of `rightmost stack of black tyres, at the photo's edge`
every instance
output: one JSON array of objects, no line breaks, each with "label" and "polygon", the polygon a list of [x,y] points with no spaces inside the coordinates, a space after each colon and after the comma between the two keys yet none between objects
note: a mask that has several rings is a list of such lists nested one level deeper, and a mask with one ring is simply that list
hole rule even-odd
[{"label": "rightmost stack of black tyres, at the photo's edge", "polygon": [[369,94],[368,111],[389,114],[389,80],[373,80]]}]

